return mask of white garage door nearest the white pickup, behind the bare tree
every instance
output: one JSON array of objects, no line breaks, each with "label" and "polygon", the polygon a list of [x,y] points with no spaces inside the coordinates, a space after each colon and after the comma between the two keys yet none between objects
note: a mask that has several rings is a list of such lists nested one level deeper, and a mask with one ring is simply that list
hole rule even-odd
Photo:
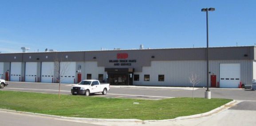
[{"label": "white garage door nearest the white pickup, behind the bare tree", "polygon": [[74,83],[75,62],[60,62],[60,81],[61,83]]}]

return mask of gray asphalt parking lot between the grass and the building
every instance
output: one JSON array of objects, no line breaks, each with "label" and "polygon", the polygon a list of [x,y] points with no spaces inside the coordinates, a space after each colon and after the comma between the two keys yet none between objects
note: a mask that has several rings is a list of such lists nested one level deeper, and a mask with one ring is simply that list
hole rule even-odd
[{"label": "gray asphalt parking lot between the grass and the building", "polygon": [[[0,90],[25,91],[58,94],[59,84],[57,83],[27,83],[8,82],[8,87]],[[60,93],[71,95],[72,84],[61,84]],[[194,97],[204,98],[206,88],[195,88]],[[210,88],[212,98],[228,98],[235,100],[256,101],[256,91],[245,91],[244,89],[222,89]],[[97,93],[93,97],[112,98],[138,98],[158,100],[174,97],[192,97],[191,87],[136,87],[136,86],[110,86],[107,95]]]}]

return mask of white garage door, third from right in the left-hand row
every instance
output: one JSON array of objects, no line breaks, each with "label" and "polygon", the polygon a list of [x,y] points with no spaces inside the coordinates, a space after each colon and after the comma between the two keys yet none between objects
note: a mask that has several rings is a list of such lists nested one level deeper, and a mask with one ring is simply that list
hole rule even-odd
[{"label": "white garage door, third from right in the left-hand row", "polygon": [[25,82],[37,82],[37,63],[26,62]]}]

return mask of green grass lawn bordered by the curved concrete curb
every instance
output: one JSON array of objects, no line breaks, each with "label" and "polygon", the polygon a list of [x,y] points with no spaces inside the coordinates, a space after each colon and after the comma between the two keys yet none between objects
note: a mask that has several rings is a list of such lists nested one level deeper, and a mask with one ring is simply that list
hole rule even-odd
[{"label": "green grass lawn bordered by the curved concrete curb", "polygon": [[[82,118],[135,118],[142,120],[171,119],[205,113],[230,99],[169,98],[139,100],[99,98],[74,95],[0,91],[0,108]],[[133,104],[139,102],[139,104]]]}]

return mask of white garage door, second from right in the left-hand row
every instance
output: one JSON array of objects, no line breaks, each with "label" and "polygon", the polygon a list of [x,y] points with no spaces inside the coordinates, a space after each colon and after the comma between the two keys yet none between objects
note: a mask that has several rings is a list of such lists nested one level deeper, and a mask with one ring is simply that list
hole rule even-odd
[{"label": "white garage door, second from right in the left-hand row", "polygon": [[42,62],[41,82],[52,83],[54,74],[54,62]]}]

